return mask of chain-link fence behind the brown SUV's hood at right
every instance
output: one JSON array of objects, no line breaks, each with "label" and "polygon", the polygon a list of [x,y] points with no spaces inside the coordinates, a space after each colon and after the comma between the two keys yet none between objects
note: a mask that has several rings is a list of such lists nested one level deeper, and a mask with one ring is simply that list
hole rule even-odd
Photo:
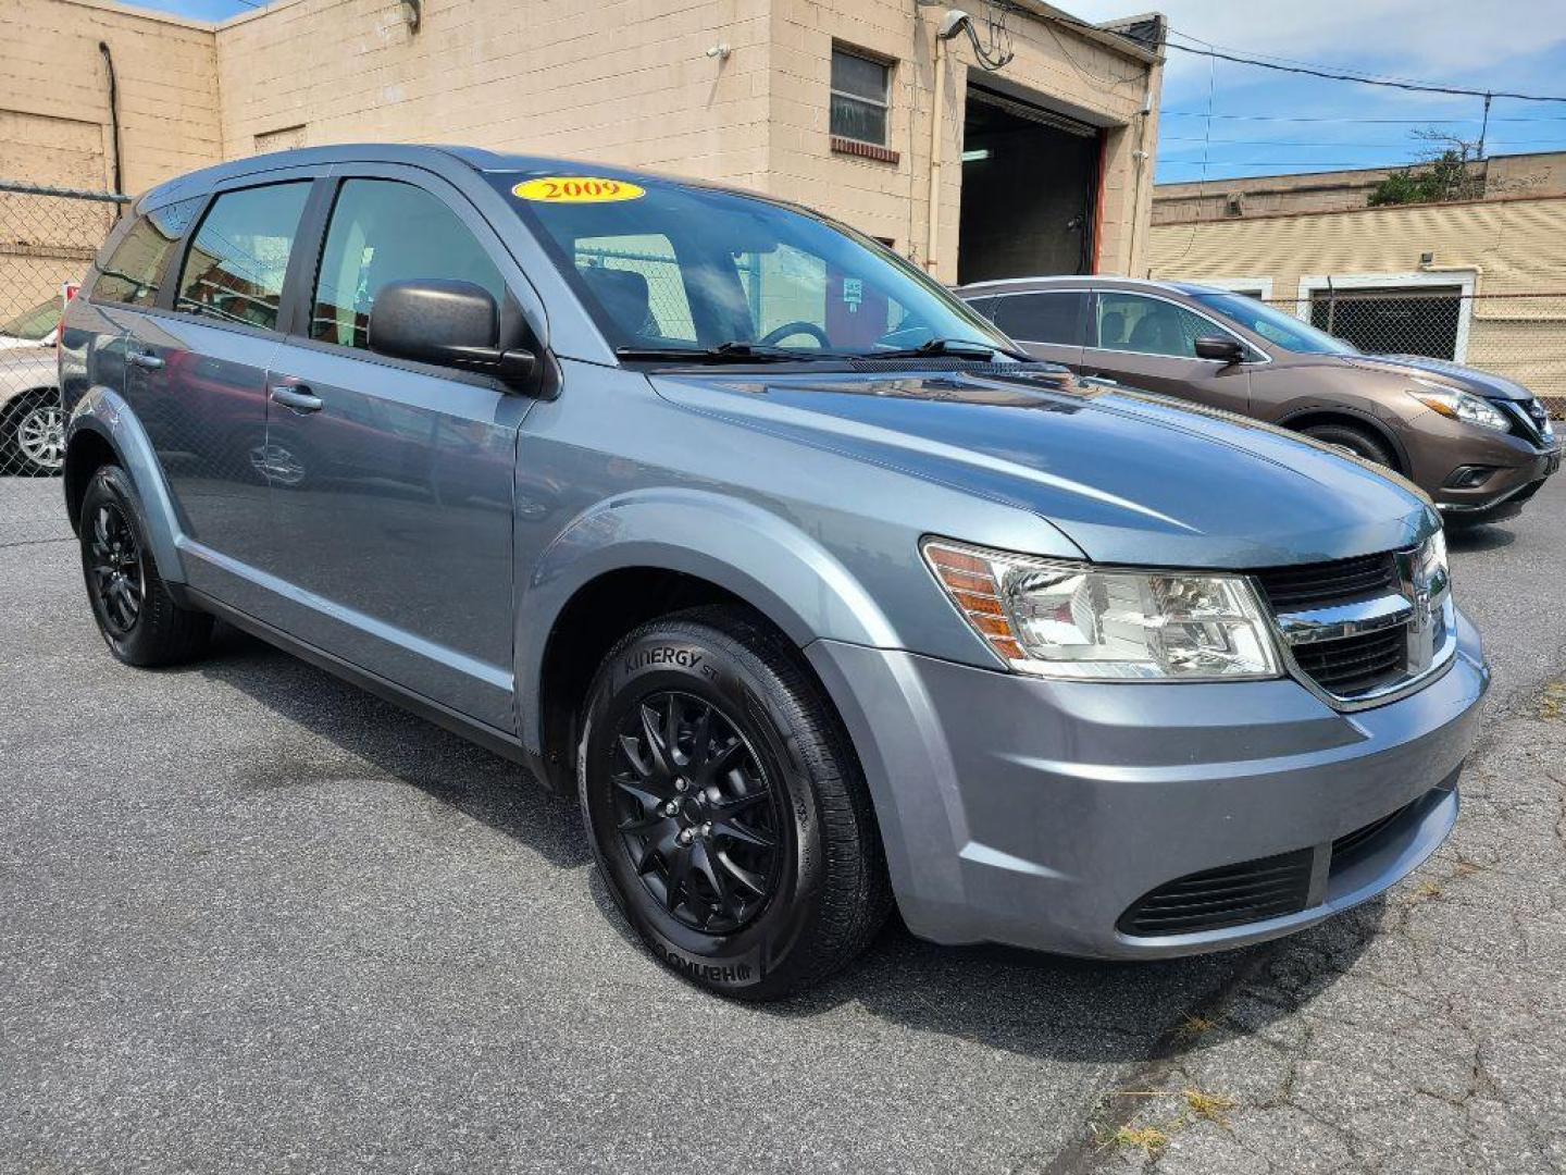
[{"label": "chain-link fence behind the brown SUV's hood at right", "polygon": [[1366,354],[1423,356],[1522,384],[1566,417],[1566,293],[1469,295],[1463,287],[1312,288],[1268,299]]}]

